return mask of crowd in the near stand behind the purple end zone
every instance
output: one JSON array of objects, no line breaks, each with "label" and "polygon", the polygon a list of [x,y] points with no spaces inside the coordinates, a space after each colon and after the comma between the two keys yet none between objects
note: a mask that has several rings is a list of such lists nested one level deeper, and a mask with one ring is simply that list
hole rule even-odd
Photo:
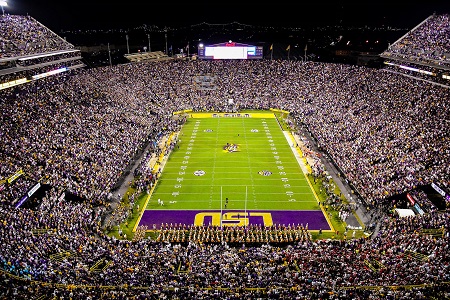
[{"label": "crowd in the near stand behind the purple end zone", "polygon": [[[102,208],[70,202],[63,195],[61,189],[49,190],[38,210],[0,207],[4,299],[49,290],[56,299],[69,299],[70,294],[85,299],[449,296],[448,213],[384,217],[373,238],[313,241],[302,226],[219,233],[207,225],[174,224],[164,227],[161,241],[130,241],[100,230]],[[424,234],[429,229],[442,229],[441,236]],[[195,238],[178,242],[173,237],[180,232]],[[290,243],[263,240],[252,246],[251,240],[239,239],[292,233],[300,238]],[[208,238],[215,235],[238,239]],[[98,267],[100,262],[104,267]]]}]

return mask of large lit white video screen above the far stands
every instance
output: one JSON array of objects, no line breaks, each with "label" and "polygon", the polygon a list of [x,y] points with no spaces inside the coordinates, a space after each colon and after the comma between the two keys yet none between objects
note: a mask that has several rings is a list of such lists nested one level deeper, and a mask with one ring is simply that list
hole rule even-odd
[{"label": "large lit white video screen above the far stands", "polygon": [[198,46],[199,59],[262,59],[263,47],[228,42]]}]

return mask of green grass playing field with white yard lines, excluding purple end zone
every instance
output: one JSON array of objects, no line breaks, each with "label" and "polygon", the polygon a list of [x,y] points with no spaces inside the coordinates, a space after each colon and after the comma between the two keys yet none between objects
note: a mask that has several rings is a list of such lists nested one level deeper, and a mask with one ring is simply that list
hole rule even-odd
[{"label": "green grass playing field with white yard lines, excluding purple end zone", "polygon": [[147,210],[320,211],[273,113],[211,115],[187,120]]}]

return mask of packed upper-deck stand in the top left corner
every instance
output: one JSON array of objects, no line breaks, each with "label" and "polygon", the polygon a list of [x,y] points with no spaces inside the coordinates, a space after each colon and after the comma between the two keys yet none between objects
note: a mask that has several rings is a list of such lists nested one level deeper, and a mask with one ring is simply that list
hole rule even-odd
[{"label": "packed upper-deck stand in the top left corner", "polygon": [[30,16],[0,16],[0,89],[85,67],[81,53]]}]

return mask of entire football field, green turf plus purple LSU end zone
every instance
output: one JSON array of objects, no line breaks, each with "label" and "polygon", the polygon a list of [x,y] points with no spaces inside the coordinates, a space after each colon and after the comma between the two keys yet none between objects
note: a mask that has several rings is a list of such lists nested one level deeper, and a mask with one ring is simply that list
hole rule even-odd
[{"label": "entire football field, green turf plus purple LSU end zone", "polygon": [[173,142],[139,225],[330,229],[295,155],[295,141],[272,112],[192,114]]}]

